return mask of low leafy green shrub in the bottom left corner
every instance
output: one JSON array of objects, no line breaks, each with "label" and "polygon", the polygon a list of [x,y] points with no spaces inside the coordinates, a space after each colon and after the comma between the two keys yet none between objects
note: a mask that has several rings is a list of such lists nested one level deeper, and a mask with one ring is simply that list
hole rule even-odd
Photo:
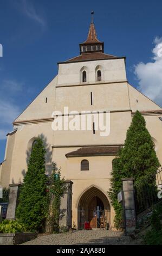
[{"label": "low leafy green shrub in the bottom left corner", "polygon": [[25,226],[18,221],[4,220],[0,224],[0,233],[17,233],[25,231]]}]

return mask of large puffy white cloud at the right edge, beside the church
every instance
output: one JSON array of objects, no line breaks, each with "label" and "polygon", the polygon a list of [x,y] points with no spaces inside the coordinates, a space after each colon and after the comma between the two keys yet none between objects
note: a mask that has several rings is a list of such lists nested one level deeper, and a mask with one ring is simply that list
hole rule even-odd
[{"label": "large puffy white cloud at the right edge, beside the church", "polygon": [[154,39],[152,49],[152,62],[135,65],[134,73],[139,80],[138,89],[151,100],[162,106],[162,57],[159,56],[158,45],[162,43],[162,38]]}]

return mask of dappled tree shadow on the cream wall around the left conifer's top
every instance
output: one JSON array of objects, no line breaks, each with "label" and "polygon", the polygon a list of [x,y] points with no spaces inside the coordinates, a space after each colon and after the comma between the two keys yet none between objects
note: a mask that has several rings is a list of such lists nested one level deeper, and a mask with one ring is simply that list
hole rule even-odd
[{"label": "dappled tree shadow on the cream wall around the left conifer's top", "polygon": [[[45,166],[46,166],[46,174],[47,175],[50,175],[51,174],[51,170],[52,170],[52,148],[51,148],[51,144],[49,144],[47,142],[47,137],[45,137],[43,135],[43,133],[41,133],[41,135],[39,135],[42,140],[43,140],[43,144],[44,144],[44,148],[46,149],[46,154],[45,154],[45,160],[46,160],[46,163],[45,163]],[[33,142],[35,141],[36,137],[33,138]],[[31,146],[32,146],[32,143],[31,143]],[[27,161],[27,166],[28,166],[28,163],[29,163],[29,159],[30,159],[30,154],[31,154],[31,146],[28,147],[28,150],[26,151],[26,155],[27,155],[27,158],[26,158],[26,161]],[[27,170],[23,169],[21,174],[23,176],[23,179],[24,179],[24,176],[26,174]],[[18,183],[19,184],[22,184],[23,183],[23,179],[19,179],[18,180]],[[12,184],[15,184],[15,181],[14,181],[14,178],[12,178]]]}]

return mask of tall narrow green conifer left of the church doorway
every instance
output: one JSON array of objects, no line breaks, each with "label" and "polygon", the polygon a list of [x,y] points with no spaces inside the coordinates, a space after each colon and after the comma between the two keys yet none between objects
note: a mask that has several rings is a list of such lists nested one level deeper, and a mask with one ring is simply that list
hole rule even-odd
[{"label": "tall narrow green conifer left of the church doorway", "polygon": [[31,231],[41,230],[46,217],[45,153],[42,138],[38,137],[31,151],[16,210],[16,217]]}]

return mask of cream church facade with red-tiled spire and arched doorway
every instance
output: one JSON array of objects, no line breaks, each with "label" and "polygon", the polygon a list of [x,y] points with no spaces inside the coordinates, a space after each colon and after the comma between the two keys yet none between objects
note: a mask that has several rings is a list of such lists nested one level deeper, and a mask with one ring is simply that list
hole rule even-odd
[{"label": "cream church facade with red-tiled spire and arched doorway", "polygon": [[[93,19],[87,40],[80,44],[80,55],[58,63],[58,67],[57,76],[14,121],[14,130],[7,135],[0,182],[3,187],[22,183],[32,145],[41,135],[47,150],[46,174],[51,174],[51,163],[55,161],[64,179],[73,182],[72,227],[82,228],[83,222],[89,221],[98,228],[95,212],[102,210],[113,229],[114,209],[107,193],[112,161],[139,110],[162,163],[162,109],[128,83],[125,57],[104,53]],[[68,107],[66,113],[64,107]],[[54,111],[58,114],[54,115]],[[89,116],[108,112],[109,134],[100,136],[93,118],[89,130],[52,129],[58,115],[70,117],[73,113],[77,118],[82,111],[89,111]]]}]

